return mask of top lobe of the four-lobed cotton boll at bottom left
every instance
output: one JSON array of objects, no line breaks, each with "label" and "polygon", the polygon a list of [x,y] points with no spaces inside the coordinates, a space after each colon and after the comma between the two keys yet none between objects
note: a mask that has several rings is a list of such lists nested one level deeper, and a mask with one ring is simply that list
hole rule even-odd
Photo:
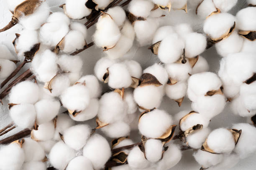
[{"label": "top lobe of the four-lobed cotton boll at bottom left", "polygon": [[82,149],[90,137],[89,125],[74,125],[63,133],[64,143],[74,150]]}]

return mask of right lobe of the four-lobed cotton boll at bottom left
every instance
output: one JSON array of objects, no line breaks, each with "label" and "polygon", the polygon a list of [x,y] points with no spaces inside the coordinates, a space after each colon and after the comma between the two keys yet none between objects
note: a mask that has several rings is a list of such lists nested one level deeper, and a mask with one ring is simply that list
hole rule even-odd
[{"label": "right lobe of the four-lobed cotton boll at bottom left", "polygon": [[84,146],[83,155],[91,161],[95,170],[100,170],[111,156],[108,141],[101,135],[93,135]]}]

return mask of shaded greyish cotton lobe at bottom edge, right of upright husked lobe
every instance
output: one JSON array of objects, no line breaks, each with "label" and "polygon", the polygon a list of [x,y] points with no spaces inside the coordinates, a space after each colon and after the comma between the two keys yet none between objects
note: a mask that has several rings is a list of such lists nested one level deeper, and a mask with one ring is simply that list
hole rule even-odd
[{"label": "shaded greyish cotton lobe at bottom edge, right of upright husked lobe", "polygon": [[157,163],[157,170],[168,170],[179,163],[182,153],[177,145],[167,144],[168,149],[164,152],[163,158]]}]

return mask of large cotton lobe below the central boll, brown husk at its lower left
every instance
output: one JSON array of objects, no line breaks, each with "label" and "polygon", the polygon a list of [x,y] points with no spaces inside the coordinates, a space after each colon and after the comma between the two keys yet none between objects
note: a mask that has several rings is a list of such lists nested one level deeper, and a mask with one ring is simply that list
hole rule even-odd
[{"label": "large cotton lobe below the central boll, brown husk at its lower left", "polygon": [[104,123],[123,120],[125,102],[117,92],[108,92],[101,96],[98,117]]}]

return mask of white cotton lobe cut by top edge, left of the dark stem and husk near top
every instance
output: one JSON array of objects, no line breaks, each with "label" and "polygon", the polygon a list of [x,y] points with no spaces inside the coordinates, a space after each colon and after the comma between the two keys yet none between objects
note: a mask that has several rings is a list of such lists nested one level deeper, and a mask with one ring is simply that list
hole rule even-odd
[{"label": "white cotton lobe cut by top edge, left of the dark stem and husk near top", "polygon": [[92,10],[85,6],[85,2],[87,2],[87,0],[76,0],[75,2],[73,0],[66,0],[65,13],[72,19],[82,19],[90,15]]}]

